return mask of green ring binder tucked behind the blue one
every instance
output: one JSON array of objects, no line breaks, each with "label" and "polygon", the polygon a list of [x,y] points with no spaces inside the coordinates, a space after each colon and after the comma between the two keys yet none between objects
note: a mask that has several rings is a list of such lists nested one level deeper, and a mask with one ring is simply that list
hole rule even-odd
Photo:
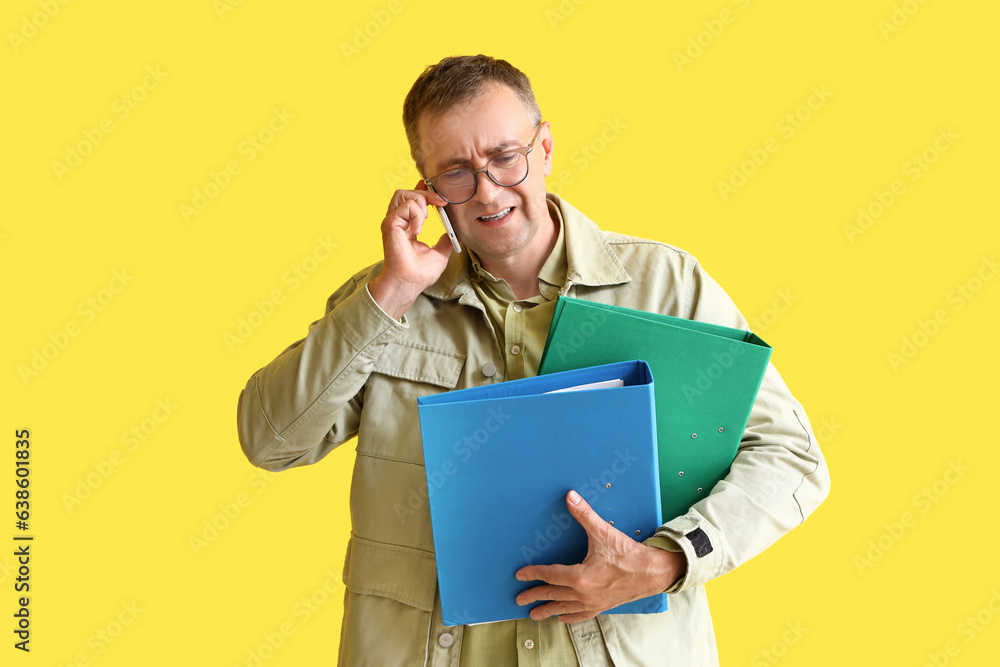
[{"label": "green ring binder tucked behind the blue one", "polygon": [[749,331],[561,296],[538,373],[649,363],[670,521],[728,474],[770,358],[771,346]]}]

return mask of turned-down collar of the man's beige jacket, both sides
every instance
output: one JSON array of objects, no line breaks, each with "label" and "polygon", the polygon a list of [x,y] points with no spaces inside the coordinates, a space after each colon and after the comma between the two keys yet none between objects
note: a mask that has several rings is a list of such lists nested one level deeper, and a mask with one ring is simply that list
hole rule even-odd
[{"label": "turned-down collar of the man's beige jacket, both sides", "polygon": [[[590,218],[557,195],[549,193],[545,197],[562,216],[566,243],[567,284],[597,287],[619,285],[632,280],[615,255],[611,244],[604,238],[604,233]],[[425,289],[424,294],[444,301],[460,299],[463,296],[468,299],[474,295],[469,277],[470,264],[467,249],[458,254],[452,253],[441,277]]]}]

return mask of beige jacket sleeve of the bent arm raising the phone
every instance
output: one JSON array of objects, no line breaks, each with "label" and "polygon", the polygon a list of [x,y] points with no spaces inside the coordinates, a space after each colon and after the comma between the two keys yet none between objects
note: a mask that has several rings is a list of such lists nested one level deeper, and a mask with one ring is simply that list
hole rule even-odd
[{"label": "beige jacket sleeve of the bent arm raising the phone", "polygon": [[278,471],[315,463],[357,433],[374,362],[407,328],[405,318],[392,319],[369,294],[374,268],[337,290],[309,334],[240,392],[240,446],[255,466]]}]

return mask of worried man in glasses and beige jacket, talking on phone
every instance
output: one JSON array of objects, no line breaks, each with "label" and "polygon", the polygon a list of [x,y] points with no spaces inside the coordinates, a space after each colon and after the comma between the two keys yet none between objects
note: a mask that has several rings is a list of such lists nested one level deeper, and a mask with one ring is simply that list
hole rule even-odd
[{"label": "worried man in glasses and beige jacket, talking on phone", "polygon": [[[427,68],[404,124],[425,180],[393,194],[384,261],[337,290],[308,336],[240,396],[240,442],[263,468],[315,463],[358,436],[341,664],[718,664],[703,585],[801,523],[829,488],[805,413],[773,367],[730,474],[687,514],[638,543],[571,491],[589,552],[580,565],[518,571],[539,583],[518,603],[548,601],[531,620],[442,625],[417,397],[535,375],[559,294],[747,325],[687,253],[602,232],[546,194],[550,127],[508,63]],[[416,240],[430,205],[446,206],[461,254],[447,235],[434,247]],[[470,539],[489,539],[488,527]],[[598,615],[662,591],[664,613]]]}]

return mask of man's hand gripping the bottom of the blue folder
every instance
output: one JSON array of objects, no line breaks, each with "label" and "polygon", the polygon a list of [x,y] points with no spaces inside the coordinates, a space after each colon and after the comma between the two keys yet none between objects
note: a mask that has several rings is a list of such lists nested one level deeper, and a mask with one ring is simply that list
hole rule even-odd
[{"label": "man's hand gripping the bottom of the blue folder", "polygon": [[576,491],[566,494],[566,508],[587,531],[587,557],[578,565],[527,565],[519,581],[544,581],[517,596],[517,604],[551,600],[531,610],[540,621],[559,616],[564,623],[591,619],[603,611],[662,593],[684,575],[687,559],[636,542],[597,515]]}]

